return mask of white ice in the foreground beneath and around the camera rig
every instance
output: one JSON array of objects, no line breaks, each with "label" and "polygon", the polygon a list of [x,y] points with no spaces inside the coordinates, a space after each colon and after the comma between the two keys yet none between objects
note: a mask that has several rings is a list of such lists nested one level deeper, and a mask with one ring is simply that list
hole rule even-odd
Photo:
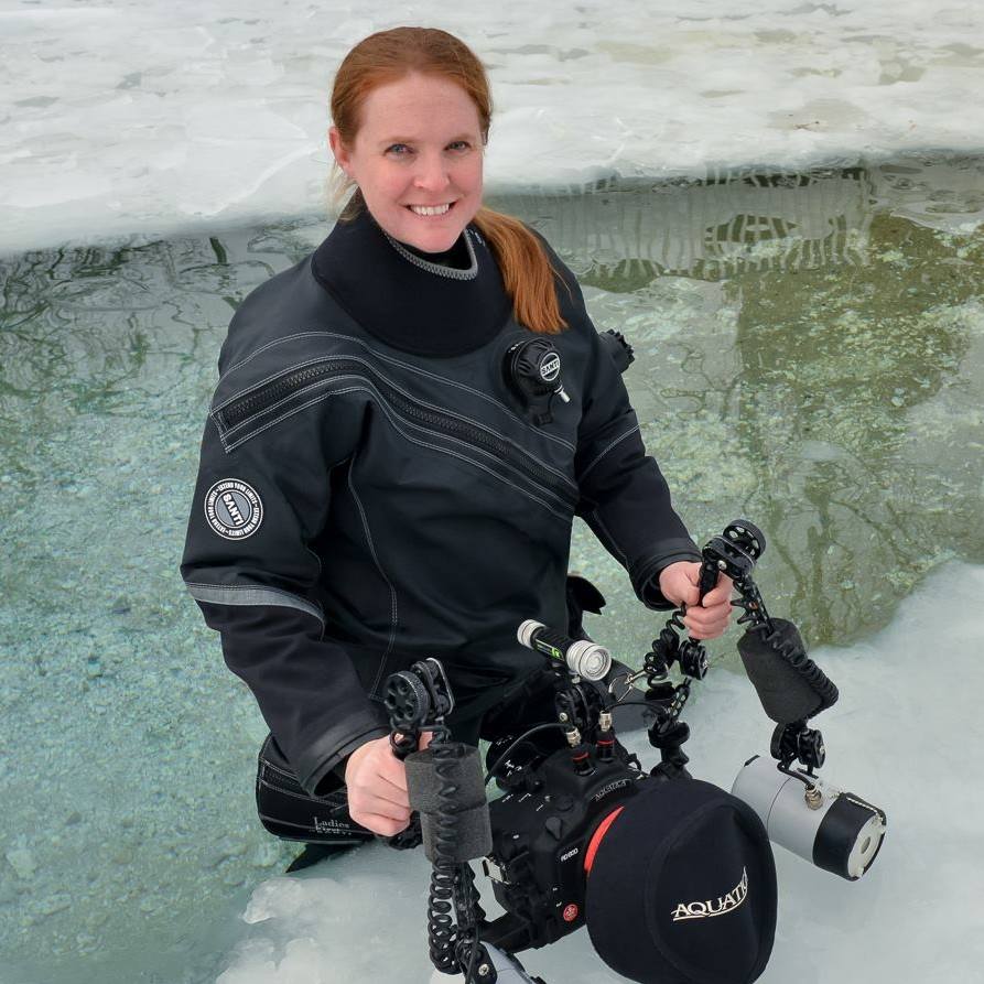
[{"label": "white ice in the foreground beneath and around the camera rig", "polygon": [[[972,749],[984,742],[977,706],[982,593],[984,567],[948,564],[884,631],[851,648],[811,653],[841,690],[839,703],[813,722],[828,749],[822,774],[883,807],[888,834],[855,883],[776,848],[779,921],[761,984],[977,978],[984,793]],[[693,728],[690,768],[731,788],[745,758],[768,755],[771,722],[743,675],[712,670],[698,691],[684,715]],[[645,734],[632,738],[632,750],[655,761]],[[429,976],[428,871],[420,851],[372,846],[263,883],[217,984],[389,984],[398,974],[431,984],[461,981]],[[483,905],[497,913],[488,883],[479,878],[478,885]],[[339,939],[350,942],[339,948]],[[624,980],[594,954],[584,931],[520,959],[550,982]]]}]

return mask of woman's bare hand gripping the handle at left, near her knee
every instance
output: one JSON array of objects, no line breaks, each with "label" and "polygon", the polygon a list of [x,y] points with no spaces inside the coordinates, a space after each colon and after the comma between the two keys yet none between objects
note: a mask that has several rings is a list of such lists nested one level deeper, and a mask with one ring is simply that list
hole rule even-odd
[{"label": "woman's bare hand gripping the handle at left, near her knee", "polygon": [[389,736],[366,742],[348,756],[345,785],[348,813],[356,823],[386,837],[410,824],[407,767],[393,755]]}]

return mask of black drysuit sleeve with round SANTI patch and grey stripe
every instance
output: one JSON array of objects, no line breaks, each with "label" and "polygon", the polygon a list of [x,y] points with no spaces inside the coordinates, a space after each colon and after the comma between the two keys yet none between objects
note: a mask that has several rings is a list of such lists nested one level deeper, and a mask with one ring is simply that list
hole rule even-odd
[{"label": "black drysuit sleeve with round SANTI patch and grey stripe", "polygon": [[360,412],[326,399],[248,440],[221,414],[214,404],[205,425],[182,576],[301,785],[324,793],[347,755],[388,732],[349,656],[323,637],[310,545]]}]

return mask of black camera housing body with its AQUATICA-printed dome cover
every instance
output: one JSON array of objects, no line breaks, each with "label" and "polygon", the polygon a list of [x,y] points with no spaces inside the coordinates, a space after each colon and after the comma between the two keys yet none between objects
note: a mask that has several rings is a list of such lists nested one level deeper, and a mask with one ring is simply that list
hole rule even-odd
[{"label": "black camera housing body with its AQUATICA-printed dome cover", "polygon": [[602,959],[632,981],[756,980],[777,899],[758,818],[683,769],[644,771],[608,737],[586,757],[559,749],[500,780],[483,866],[506,913],[482,927],[483,942],[515,953],[586,924]]}]

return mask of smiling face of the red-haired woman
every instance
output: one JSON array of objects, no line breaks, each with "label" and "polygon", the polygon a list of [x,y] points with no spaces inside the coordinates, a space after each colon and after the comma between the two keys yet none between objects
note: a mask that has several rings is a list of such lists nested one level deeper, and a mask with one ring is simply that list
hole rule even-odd
[{"label": "smiling face of the red-haired woman", "polygon": [[363,104],[354,145],[335,127],[328,139],[376,221],[424,252],[451,249],[482,204],[478,110],[447,79],[413,73],[379,86]]}]

